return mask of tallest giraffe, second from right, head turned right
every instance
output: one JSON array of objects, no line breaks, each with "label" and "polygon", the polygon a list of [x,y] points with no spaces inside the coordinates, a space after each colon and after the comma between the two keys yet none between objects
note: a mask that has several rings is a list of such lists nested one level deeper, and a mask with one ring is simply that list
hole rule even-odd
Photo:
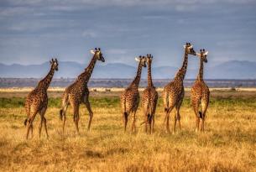
[{"label": "tallest giraffe, second from right, head turned right", "polygon": [[174,80],[170,81],[170,83],[165,86],[163,91],[167,133],[170,133],[169,116],[170,116],[170,112],[173,110],[174,107],[176,110],[176,114],[175,114],[175,123],[174,123],[173,133],[175,133],[177,120],[179,122],[179,127],[180,127],[180,106],[183,102],[183,97],[185,94],[183,81],[185,78],[185,73],[186,73],[186,68],[188,63],[188,55],[196,55],[196,52],[195,50],[193,50],[193,45],[191,43],[186,43],[184,45],[184,49],[185,49],[185,52],[184,52],[183,64],[181,68],[177,71]]}]

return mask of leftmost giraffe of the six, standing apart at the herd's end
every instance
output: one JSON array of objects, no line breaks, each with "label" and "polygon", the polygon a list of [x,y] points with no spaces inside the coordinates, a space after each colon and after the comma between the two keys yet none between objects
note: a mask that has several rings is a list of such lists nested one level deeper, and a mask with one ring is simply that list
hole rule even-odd
[{"label": "leftmost giraffe of the six, standing apart at the herd's end", "polygon": [[44,123],[45,133],[47,138],[49,138],[44,113],[46,112],[48,105],[47,89],[50,86],[50,82],[55,74],[55,70],[58,70],[58,60],[50,60],[50,65],[50,71],[47,76],[45,76],[43,80],[39,81],[39,84],[34,88],[33,91],[29,93],[26,98],[25,110],[28,117],[25,119],[24,125],[27,126],[27,139],[29,138],[29,131],[33,137],[33,121],[37,113],[39,113],[41,117],[41,122],[39,125],[39,137],[41,136],[41,129]]}]

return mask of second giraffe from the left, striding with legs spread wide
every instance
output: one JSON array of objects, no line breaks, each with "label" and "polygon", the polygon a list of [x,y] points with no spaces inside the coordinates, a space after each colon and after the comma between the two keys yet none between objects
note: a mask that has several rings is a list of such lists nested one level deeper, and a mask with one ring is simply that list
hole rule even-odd
[{"label": "second giraffe from the left, striding with legs spread wide", "polygon": [[86,67],[85,71],[82,72],[77,78],[76,81],[68,86],[65,89],[65,92],[62,96],[62,107],[60,109],[60,119],[63,121],[62,133],[64,134],[65,128],[65,112],[69,104],[71,105],[73,111],[73,119],[76,125],[76,132],[79,133],[78,122],[79,122],[79,107],[81,103],[86,105],[86,108],[89,112],[89,122],[88,128],[89,131],[91,128],[91,120],[93,117],[93,112],[91,111],[91,105],[89,102],[89,90],[87,87],[87,83],[91,77],[92,70],[97,62],[100,60],[105,62],[104,57],[102,55],[102,51],[100,48],[95,48],[95,50],[91,50],[91,54],[93,55],[91,58],[91,62]]}]

